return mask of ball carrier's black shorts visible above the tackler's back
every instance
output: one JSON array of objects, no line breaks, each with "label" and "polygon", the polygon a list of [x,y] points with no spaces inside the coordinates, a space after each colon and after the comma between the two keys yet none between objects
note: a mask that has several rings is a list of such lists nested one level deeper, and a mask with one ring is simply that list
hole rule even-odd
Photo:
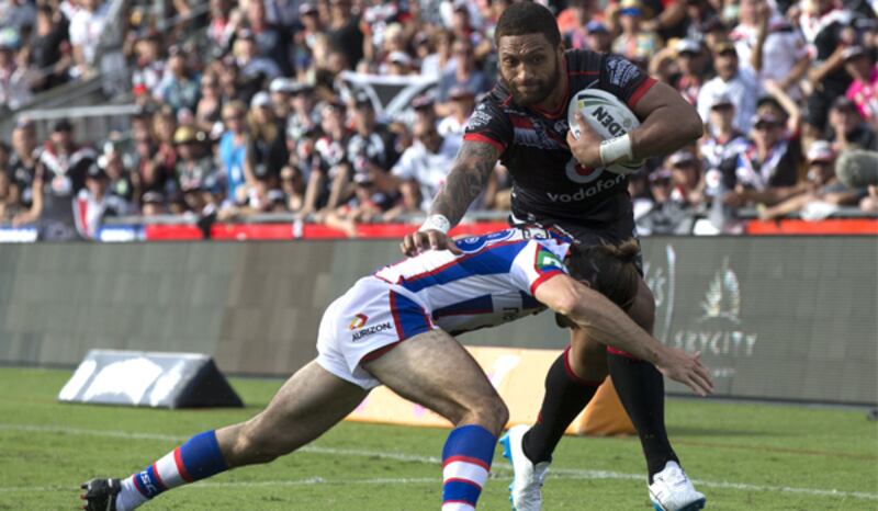
[{"label": "ball carrier's black shorts visible above the tackler's back", "polygon": [[[570,236],[582,247],[617,245],[631,238],[633,238],[638,242],[638,247],[640,247],[640,237],[638,236],[634,219],[629,216],[623,216],[609,224],[584,225],[551,217],[530,217],[528,220],[521,220],[509,215],[509,225],[513,227],[531,226],[543,229],[552,227]],[[638,273],[643,276],[643,252],[638,252],[634,265],[638,268]]]}]

